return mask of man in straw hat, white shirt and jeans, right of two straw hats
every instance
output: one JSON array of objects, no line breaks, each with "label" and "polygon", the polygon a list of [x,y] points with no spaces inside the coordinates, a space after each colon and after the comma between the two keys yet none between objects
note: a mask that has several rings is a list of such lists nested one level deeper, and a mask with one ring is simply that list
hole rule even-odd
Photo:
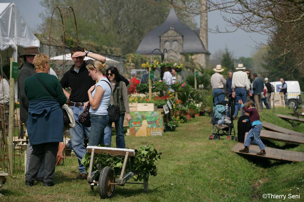
[{"label": "man in straw hat, white shirt and jeans, right of two straw hats", "polygon": [[[234,118],[237,118],[237,113],[240,108],[239,100],[242,100],[243,103],[246,102],[247,91],[250,89],[250,85],[248,82],[247,74],[243,71],[246,67],[243,64],[238,64],[237,68],[238,71],[233,73],[232,77],[232,97],[235,98],[235,111],[234,111]],[[242,112],[244,116],[244,111]]]}]

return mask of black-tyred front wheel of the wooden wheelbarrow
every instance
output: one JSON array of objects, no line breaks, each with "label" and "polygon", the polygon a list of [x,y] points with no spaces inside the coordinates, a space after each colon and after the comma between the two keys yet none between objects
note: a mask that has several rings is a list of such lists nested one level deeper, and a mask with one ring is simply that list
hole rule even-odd
[{"label": "black-tyred front wheel of the wooden wheelbarrow", "polygon": [[100,198],[110,198],[114,192],[114,183],[115,178],[113,176],[113,171],[109,166],[106,166],[102,169],[99,175],[99,185],[98,185],[98,192]]}]

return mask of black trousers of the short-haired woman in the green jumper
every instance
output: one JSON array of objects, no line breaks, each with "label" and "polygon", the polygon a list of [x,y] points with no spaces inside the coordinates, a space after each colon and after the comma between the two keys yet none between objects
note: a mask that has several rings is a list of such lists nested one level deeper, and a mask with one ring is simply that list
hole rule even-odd
[{"label": "black trousers of the short-haired woman in the green jumper", "polygon": [[43,157],[45,156],[45,176],[43,182],[53,182],[58,146],[59,142],[47,142],[43,144],[32,145],[33,152],[29,159],[29,168],[25,174],[25,180],[28,180],[30,182],[36,180],[39,167],[41,165]]}]

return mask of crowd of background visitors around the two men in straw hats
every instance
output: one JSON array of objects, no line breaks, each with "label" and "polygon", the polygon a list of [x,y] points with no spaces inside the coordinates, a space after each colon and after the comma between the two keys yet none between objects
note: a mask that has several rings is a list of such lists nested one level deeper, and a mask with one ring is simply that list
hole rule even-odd
[{"label": "crowd of background visitors around the two men in straw hats", "polygon": [[[223,75],[220,74],[224,69],[221,65],[216,65],[216,68],[213,69],[215,73],[211,76],[214,104],[216,105],[217,103],[225,100],[224,94],[221,94],[225,90],[225,94],[228,97],[234,98],[234,119],[238,117],[238,111],[240,110],[239,100],[243,103],[249,100],[253,101],[257,111],[261,111],[263,103],[267,109],[270,109],[271,92],[274,92],[275,90],[274,86],[269,83],[268,78],[264,78],[265,84],[263,84],[263,81],[256,73],[253,74],[252,79],[250,71],[245,69],[246,67],[244,67],[243,64],[238,64],[236,68],[237,71],[228,71],[228,77],[225,80]],[[279,89],[284,93],[284,101],[285,105],[287,105],[287,84],[283,78],[281,78],[280,81],[282,82],[282,85]],[[244,116],[243,110],[242,116]]]}]

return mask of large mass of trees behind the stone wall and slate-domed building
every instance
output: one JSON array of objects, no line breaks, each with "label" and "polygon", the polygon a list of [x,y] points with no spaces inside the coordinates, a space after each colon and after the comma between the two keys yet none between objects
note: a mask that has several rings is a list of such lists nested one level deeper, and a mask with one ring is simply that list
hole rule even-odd
[{"label": "large mass of trees behind the stone wall and slate-domed building", "polygon": [[[123,55],[135,52],[143,37],[164,22],[170,9],[168,2],[153,4],[148,0],[42,0],[40,4],[45,7],[40,14],[43,18],[41,32],[48,35],[50,17],[56,6],[71,5],[80,44],[88,41],[120,48]],[[55,14],[59,20],[59,12]],[[179,14],[179,17],[183,22],[193,22],[187,15]],[[71,32],[75,32],[74,29]],[[75,33],[71,34],[75,36]]]}]

